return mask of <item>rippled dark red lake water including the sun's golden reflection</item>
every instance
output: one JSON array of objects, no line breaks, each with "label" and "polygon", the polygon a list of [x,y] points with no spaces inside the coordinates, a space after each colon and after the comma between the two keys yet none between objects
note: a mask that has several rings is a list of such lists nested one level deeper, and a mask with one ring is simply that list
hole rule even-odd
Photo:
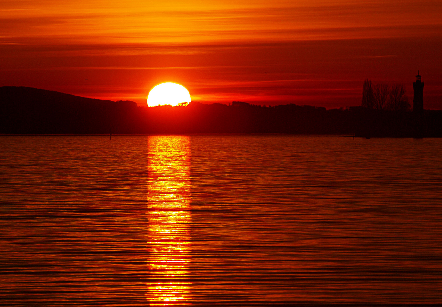
[{"label": "rippled dark red lake water including the sun's golden reflection", "polygon": [[442,303],[442,139],[0,137],[0,305]]}]

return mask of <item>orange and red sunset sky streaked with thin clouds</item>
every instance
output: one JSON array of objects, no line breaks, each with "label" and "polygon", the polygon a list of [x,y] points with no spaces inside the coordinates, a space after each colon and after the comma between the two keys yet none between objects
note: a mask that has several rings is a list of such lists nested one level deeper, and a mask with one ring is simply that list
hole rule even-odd
[{"label": "orange and red sunset sky streaked with thin clouds", "polygon": [[360,105],[364,79],[418,70],[442,109],[440,0],[0,0],[0,86],[145,105],[162,82],[192,101]]}]

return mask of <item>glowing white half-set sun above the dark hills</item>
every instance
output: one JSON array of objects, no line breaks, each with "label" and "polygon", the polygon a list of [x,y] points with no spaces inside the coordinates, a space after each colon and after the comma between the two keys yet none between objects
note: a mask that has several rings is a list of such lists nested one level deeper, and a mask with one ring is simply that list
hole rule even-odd
[{"label": "glowing white half-set sun above the dark hills", "polygon": [[180,84],[164,82],[158,84],[150,90],[147,96],[147,105],[179,105],[180,103],[191,102],[191,94]]}]

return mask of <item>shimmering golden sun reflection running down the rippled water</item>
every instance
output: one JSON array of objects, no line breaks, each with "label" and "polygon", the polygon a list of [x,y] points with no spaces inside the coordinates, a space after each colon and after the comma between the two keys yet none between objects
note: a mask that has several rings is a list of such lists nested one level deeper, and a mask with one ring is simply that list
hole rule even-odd
[{"label": "shimmering golden sun reflection running down the rippled water", "polygon": [[149,259],[151,306],[189,299],[190,138],[148,138]]}]

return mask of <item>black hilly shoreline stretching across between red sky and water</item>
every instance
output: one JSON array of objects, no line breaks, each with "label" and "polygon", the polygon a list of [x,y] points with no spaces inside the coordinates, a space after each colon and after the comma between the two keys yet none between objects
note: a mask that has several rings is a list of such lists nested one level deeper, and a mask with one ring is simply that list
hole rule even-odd
[{"label": "black hilly shoreline stretching across between red sky and water", "polygon": [[1,134],[355,134],[362,137],[442,137],[442,111],[366,107],[326,110],[309,105],[140,107],[133,101],[84,98],[30,87],[0,87]]}]

